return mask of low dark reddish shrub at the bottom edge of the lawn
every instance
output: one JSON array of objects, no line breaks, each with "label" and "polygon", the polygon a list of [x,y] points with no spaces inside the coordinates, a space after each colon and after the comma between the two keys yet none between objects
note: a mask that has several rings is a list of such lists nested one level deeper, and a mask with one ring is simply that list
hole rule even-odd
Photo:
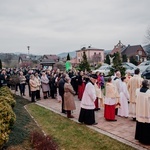
[{"label": "low dark reddish shrub at the bottom edge of the lawn", "polygon": [[31,143],[35,150],[57,150],[58,145],[50,136],[44,136],[39,132],[31,133]]}]

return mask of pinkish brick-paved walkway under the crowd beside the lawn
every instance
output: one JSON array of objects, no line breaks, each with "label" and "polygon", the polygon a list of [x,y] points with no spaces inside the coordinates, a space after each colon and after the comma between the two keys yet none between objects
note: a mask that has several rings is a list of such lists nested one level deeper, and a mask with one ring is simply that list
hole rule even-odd
[{"label": "pinkish brick-paved walkway under the crowd beside the lawn", "polygon": [[[25,96],[24,98],[30,100],[30,97],[28,96]],[[36,104],[66,117],[65,114],[61,113],[61,103],[59,103],[56,99],[42,99],[37,101]],[[73,118],[72,120],[78,122],[78,116],[80,112],[80,101],[78,100],[77,96],[75,96],[75,104],[76,110],[73,111],[73,115],[75,118]],[[101,108],[101,110],[95,112],[96,122],[98,122],[98,124],[88,127],[102,134],[110,136],[111,138],[114,138],[122,143],[130,145],[136,149],[150,149],[150,145],[143,145],[134,139],[136,122],[132,121],[131,118],[122,118],[116,116],[116,122],[108,122],[104,119],[103,116],[104,110],[103,108]]]}]

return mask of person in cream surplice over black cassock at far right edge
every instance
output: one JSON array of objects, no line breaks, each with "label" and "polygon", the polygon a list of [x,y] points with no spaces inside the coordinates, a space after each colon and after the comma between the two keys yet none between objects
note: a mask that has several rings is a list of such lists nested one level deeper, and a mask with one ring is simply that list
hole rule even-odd
[{"label": "person in cream surplice over black cassock at far right edge", "polygon": [[150,144],[150,90],[148,80],[136,90],[136,131],[135,139]]}]

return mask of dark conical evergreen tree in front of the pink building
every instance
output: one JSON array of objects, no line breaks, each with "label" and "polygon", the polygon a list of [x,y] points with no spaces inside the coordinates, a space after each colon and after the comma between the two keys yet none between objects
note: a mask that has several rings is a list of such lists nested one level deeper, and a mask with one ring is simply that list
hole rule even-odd
[{"label": "dark conical evergreen tree in front of the pink building", "polygon": [[82,71],[85,71],[85,70],[90,71],[91,70],[90,65],[87,61],[87,56],[86,56],[85,52],[83,52],[82,61],[79,64],[79,69]]}]

